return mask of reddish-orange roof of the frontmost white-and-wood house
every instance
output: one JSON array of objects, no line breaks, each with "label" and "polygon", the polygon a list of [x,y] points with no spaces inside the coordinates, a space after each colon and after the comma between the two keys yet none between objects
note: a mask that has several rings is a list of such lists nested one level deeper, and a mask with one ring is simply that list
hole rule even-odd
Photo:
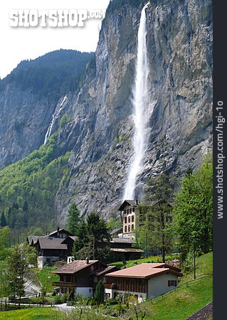
[{"label": "reddish-orange roof of the frontmost white-and-wood house", "polygon": [[[171,269],[169,266],[167,267],[154,267],[154,265],[159,264],[152,264],[152,263],[142,263],[141,265],[135,265],[134,267],[129,267],[123,270],[115,271],[112,273],[106,274],[106,277],[123,277],[123,278],[142,278],[142,279],[149,279],[151,277],[156,277],[159,274],[163,273],[172,273],[176,274],[178,277],[181,277],[183,274]],[[166,264],[161,264],[166,265]]]}]

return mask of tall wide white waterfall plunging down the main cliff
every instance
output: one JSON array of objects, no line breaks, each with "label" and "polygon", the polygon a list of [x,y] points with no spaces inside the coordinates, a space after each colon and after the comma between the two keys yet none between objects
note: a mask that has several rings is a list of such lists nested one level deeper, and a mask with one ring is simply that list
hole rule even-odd
[{"label": "tall wide white waterfall plunging down the main cliff", "polygon": [[134,87],[132,90],[132,105],[133,105],[133,122],[134,136],[133,149],[134,155],[130,163],[130,170],[125,184],[124,200],[134,199],[134,191],[136,188],[137,175],[142,169],[142,159],[147,150],[147,127],[148,127],[148,75],[149,63],[147,58],[147,21],[145,9],[147,4],[142,9],[141,18],[139,21],[138,30],[138,46],[136,60],[136,76]]}]

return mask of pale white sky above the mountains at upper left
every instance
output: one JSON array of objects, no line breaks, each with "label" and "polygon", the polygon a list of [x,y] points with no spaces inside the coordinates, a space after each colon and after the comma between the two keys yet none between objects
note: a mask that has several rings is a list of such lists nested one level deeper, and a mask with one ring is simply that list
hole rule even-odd
[{"label": "pale white sky above the mountains at upper left", "polygon": [[105,10],[110,0],[7,0],[0,2],[0,77],[6,77],[21,60],[34,59],[53,50],[95,51],[102,18],[85,21],[83,27],[12,27],[13,9]]}]

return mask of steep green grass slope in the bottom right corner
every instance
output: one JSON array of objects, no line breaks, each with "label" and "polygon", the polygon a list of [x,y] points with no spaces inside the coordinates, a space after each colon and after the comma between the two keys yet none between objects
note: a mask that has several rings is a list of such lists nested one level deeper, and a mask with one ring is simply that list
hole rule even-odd
[{"label": "steep green grass slope in the bottom right corner", "polygon": [[181,284],[175,291],[144,302],[149,309],[145,319],[184,320],[211,302],[213,277],[201,276],[212,274],[212,263],[212,252],[196,258],[196,277],[198,279],[186,284],[194,279],[194,273],[191,272],[182,278]]}]

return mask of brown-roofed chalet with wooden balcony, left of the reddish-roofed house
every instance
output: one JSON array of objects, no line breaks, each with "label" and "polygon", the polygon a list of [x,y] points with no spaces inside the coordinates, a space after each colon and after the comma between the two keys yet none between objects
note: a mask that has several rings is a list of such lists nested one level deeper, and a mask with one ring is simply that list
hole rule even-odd
[{"label": "brown-roofed chalet with wooden balcony, left of the reddish-roofed house", "polygon": [[115,270],[115,266],[107,267],[98,260],[75,260],[53,271],[60,277],[58,282],[53,282],[53,286],[59,286],[61,294],[74,291],[84,297],[93,297],[97,282],[106,282],[105,274]]}]

